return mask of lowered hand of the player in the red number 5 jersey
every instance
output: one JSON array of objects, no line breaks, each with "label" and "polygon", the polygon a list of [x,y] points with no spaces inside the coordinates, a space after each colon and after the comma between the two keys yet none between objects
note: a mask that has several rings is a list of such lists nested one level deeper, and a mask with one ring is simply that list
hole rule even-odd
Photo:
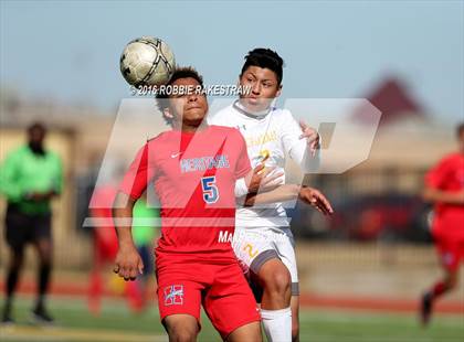
[{"label": "lowered hand of the player in the red number 5 jersey", "polygon": [[113,271],[124,280],[135,280],[144,274],[144,261],[134,245],[120,245]]}]

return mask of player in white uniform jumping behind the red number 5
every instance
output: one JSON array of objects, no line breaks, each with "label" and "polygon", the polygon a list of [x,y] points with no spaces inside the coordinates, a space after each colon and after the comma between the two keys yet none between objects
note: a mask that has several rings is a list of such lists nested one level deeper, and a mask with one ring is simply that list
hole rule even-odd
[{"label": "player in white uniform jumping behind the red number 5", "polygon": [[[286,109],[272,106],[281,95],[283,60],[268,49],[255,49],[245,57],[240,85],[250,87],[232,105],[209,117],[212,125],[238,128],[255,168],[264,161],[285,182],[285,158],[289,156],[304,173],[319,165],[319,136],[298,124]],[[238,182],[236,195],[247,191]],[[261,190],[260,190],[261,191]],[[262,289],[263,325],[270,341],[298,341],[298,274],[294,238],[282,203],[236,211],[233,241],[236,256]]]}]

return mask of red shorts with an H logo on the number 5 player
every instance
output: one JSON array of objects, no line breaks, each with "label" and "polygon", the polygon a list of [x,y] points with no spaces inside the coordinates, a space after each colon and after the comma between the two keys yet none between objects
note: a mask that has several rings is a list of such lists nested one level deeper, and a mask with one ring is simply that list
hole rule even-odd
[{"label": "red shorts with an H logo on the number 5 player", "polygon": [[184,313],[193,316],[201,327],[202,304],[211,323],[225,339],[235,329],[261,320],[236,260],[218,265],[204,259],[179,260],[164,253],[157,254],[156,264],[161,321],[170,314]]}]

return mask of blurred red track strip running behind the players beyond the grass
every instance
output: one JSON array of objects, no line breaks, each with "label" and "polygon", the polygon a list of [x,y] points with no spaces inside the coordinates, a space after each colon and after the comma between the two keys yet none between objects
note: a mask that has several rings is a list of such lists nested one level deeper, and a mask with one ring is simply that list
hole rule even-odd
[{"label": "blurred red track strip running behind the players beyond the grass", "polygon": [[[3,291],[3,284],[0,282],[0,290]],[[23,282],[19,288],[20,293],[32,295],[35,287],[31,282]],[[52,286],[52,295],[61,296],[87,296],[86,285],[83,284],[64,284],[55,282]],[[118,297],[109,291],[105,291],[106,297]],[[390,298],[372,298],[372,297],[321,297],[309,293],[302,293],[302,307],[313,308],[334,308],[347,310],[366,310],[382,312],[415,312],[418,310],[418,301],[411,299],[390,299]],[[452,302],[442,300],[436,303],[435,312],[464,314],[464,302]]]}]

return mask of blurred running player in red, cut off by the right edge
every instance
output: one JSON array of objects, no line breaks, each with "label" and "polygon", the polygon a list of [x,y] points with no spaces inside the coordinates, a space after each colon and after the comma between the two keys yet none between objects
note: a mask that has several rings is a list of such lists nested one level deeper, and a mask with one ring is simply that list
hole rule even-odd
[{"label": "blurred running player in red, cut off by the right edge", "polygon": [[460,151],[443,158],[425,178],[425,201],[434,203],[432,234],[444,278],[422,296],[421,319],[428,324],[434,301],[457,285],[464,261],[464,124],[457,128]]}]

